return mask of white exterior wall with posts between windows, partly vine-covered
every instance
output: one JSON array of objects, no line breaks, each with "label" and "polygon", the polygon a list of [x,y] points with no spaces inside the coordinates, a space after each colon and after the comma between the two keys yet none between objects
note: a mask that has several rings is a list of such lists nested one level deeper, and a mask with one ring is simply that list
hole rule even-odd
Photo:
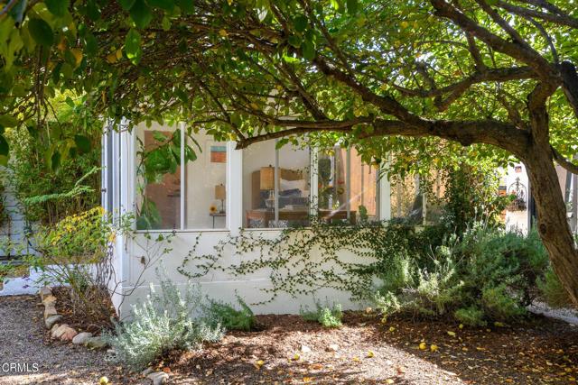
[{"label": "white exterior wall with posts between windows, partly vine-covered", "polygon": [[[132,212],[135,207],[135,131],[122,131],[114,133],[113,140],[114,152],[113,164],[106,165],[106,171],[103,173],[103,178],[107,178],[107,172],[112,174],[114,188],[112,191],[107,191],[103,197],[103,202],[107,199],[112,199],[114,210],[120,213]],[[260,154],[263,157],[258,160],[258,164],[252,164],[251,157],[245,157],[243,151],[235,150],[235,143],[228,142],[228,162],[226,165],[226,185],[227,185],[227,200],[225,202],[227,218],[223,229],[203,229],[200,231],[185,230],[176,233],[172,240],[170,248],[171,252],[163,256],[163,266],[167,271],[168,276],[177,284],[183,285],[187,278],[177,271],[177,268],[182,265],[182,260],[186,254],[191,250],[192,245],[196,242],[197,236],[202,232],[198,252],[213,253],[214,247],[219,242],[227,239],[228,235],[236,235],[239,228],[243,226],[244,220],[244,203],[247,205],[247,192],[244,193],[247,182],[250,186],[250,172],[258,167],[262,167],[264,159],[271,159],[271,164],[275,163],[275,148],[269,146],[265,148],[265,144],[256,144],[247,151]],[[104,151],[108,151],[106,148]],[[262,152],[261,152],[262,151]],[[270,155],[270,156],[268,156]],[[303,168],[303,160],[308,157],[295,157],[290,147],[284,147],[280,153],[280,166],[285,168]],[[103,160],[107,157],[103,156]],[[243,163],[247,161],[247,167]],[[268,165],[265,164],[265,166]],[[193,170],[190,170],[191,172]],[[203,175],[196,176],[202,178]],[[191,178],[191,173],[187,178]],[[247,186],[248,187],[248,186]],[[381,219],[389,219],[389,194],[390,188],[387,179],[382,179],[379,186],[379,194],[382,204],[380,207]],[[196,197],[187,194],[187,199],[195,199]],[[250,199],[250,197],[249,197]],[[244,200],[246,202],[244,202]],[[250,200],[248,201],[250,202]],[[219,224],[220,225],[220,224]],[[262,236],[278,236],[278,230],[254,230],[256,234]],[[169,232],[170,233],[170,232]],[[158,233],[156,233],[158,234]],[[151,234],[155,238],[155,234]],[[118,280],[120,283],[117,287],[117,293],[113,295],[113,303],[121,317],[129,316],[130,306],[144,298],[148,294],[151,283],[156,284],[157,278],[155,276],[155,267],[150,266],[143,272],[143,264],[141,259],[144,256],[151,256],[154,252],[154,243],[146,243],[143,233],[135,232],[134,236],[117,237],[115,247],[115,269],[117,270]],[[147,252],[148,251],[148,252]],[[158,255],[158,254],[157,254]],[[154,256],[154,255],[153,255]],[[258,258],[256,253],[239,254],[232,250],[224,252],[222,260],[219,261],[222,265],[236,263],[238,261],[248,261]],[[312,261],[319,261],[321,255],[319,252],[312,252],[309,255]],[[342,252],[340,253],[341,261],[357,261],[354,255]],[[157,261],[160,262],[160,261]],[[369,262],[369,261],[367,261]],[[193,263],[190,263],[189,269],[194,269]],[[206,276],[198,280],[203,294],[210,298],[219,299],[226,302],[235,302],[236,294],[244,298],[247,304],[251,305],[270,298],[270,294],[265,293],[262,289],[271,288],[271,280],[269,279],[271,271],[259,270],[246,276],[237,277],[228,275],[219,271],[212,271]],[[141,277],[142,274],[142,277]],[[141,279],[139,280],[139,277]],[[126,294],[130,294],[126,296]],[[122,295],[125,294],[125,295]],[[315,301],[322,303],[329,301],[330,303],[340,303],[344,308],[359,308],[365,304],[354,303],[350,301],[350,293],[340,291],[337,289],[319,289],[315,296],[301,296],[291,298],[291,296],[279,293],[274,301],[268,302],[265,305],[251,306],[256,314],[266,313],[299,313],[302,307],[312,307]]]}]

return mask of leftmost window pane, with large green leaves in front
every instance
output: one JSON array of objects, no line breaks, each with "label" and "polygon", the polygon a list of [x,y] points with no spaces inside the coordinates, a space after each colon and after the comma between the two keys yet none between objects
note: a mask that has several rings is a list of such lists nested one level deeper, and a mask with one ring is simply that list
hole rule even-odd
[{"label": "leftmost window pane, with large green leaves in front", "polygon": [[181,131],[136,128],[136,228],[178,229],[181,224]]}]

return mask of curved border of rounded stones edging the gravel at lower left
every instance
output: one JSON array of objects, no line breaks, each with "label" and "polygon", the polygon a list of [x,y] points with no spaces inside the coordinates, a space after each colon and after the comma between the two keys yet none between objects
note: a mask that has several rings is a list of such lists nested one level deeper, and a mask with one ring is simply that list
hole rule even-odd
[{"label": "curved border of rounded stones edging the gravel at lower left", "polygon": [[[108,346],[102,337],[93,336],[88,332],[79,333],[70,325],[60,324],[63,316],[56,311],[56,297],[52,294],[50,287],[42,287],[38,294],[44,306],[44,326],[51,331],[52,339],[84,345],[89,349],[104,349]],[[151,368],[144,370],[141,375],[153,381],[153,385],[161,385],[169,380],[168,373],[153,371]]]}]

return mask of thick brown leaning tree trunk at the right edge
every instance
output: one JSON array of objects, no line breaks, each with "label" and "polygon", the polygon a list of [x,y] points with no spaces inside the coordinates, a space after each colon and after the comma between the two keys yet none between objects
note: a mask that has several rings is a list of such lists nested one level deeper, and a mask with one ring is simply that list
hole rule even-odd
[{"label": "thick brown leaning tree trunk at the right edge", "polygon": [[550,255],[552,267],[578,306],[578,250],[566,218],[564,197],[550,146],[532,145],[524,157],[536,200],[537,230]]}]

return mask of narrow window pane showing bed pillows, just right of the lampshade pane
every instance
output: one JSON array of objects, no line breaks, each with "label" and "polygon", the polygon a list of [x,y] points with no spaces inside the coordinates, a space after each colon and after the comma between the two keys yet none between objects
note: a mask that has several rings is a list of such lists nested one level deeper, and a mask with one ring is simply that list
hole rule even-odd
[{"label": "narrow window pane showing bed pillows, just right of the lampshade pane", "polygon": [[279,222],[276,227],[309,225],[310,151],[285,144],[278,152]]}]

